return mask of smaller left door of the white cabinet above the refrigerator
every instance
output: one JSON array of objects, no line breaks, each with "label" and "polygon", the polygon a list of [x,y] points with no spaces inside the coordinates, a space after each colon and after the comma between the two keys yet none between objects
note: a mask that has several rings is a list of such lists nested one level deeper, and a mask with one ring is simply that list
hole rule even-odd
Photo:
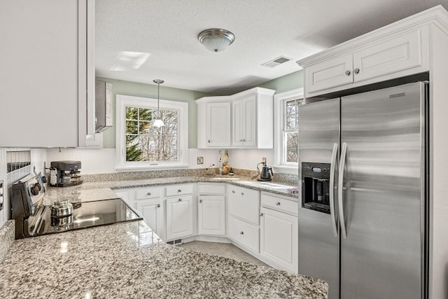
[{"label": "smaller left door of the white cabinet above the refrigerator", "polygon": [[325,60],[305,69],[305,91],[307,93],[353,83],[353,56]]}]

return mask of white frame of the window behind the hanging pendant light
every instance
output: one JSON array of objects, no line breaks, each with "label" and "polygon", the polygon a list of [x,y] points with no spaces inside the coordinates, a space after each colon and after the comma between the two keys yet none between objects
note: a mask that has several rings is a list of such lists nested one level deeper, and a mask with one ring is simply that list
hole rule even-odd
[{"label": "white frame of the window behind the hanging pendant light", "polygon": [[158,99],[116,95],[116,171],[143,171],[188,167],[188,103],[160,99],[160,110],[178,111],[178,160],[126,161],[126,106],[157,109]]}]

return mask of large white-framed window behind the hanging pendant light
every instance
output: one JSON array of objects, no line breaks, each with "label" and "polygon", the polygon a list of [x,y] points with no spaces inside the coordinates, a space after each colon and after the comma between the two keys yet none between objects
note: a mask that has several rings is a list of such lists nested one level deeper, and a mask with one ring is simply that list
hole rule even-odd
[{"label": "large white-framed window behind the hanging pendant light", "polygon": [[117,166],[120,169],[186,167],[188,103],[160,100],[164,127],[154,127],[157,99],[117,95]]}]

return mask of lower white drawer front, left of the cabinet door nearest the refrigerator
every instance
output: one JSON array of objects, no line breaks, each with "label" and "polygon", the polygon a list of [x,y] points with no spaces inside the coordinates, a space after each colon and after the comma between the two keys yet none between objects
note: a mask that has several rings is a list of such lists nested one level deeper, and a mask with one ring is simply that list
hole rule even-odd
[{"label": "lower white drawer front, left of the cabinet door nearest the refrigerator", "polygon": [[228,235],[230,239],[246,246],[248,249],[260,252],[260,229],[254,225],[229,217]]}]

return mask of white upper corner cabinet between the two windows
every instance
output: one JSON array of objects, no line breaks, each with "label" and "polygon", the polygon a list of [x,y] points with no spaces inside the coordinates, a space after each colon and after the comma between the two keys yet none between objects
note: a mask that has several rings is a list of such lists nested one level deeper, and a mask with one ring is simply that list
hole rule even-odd
[{"label": "white upper corner cabinet between the two windows", "polygon": [[198,148],[273,148],[274,93],[252,88],[197,99]]}]

